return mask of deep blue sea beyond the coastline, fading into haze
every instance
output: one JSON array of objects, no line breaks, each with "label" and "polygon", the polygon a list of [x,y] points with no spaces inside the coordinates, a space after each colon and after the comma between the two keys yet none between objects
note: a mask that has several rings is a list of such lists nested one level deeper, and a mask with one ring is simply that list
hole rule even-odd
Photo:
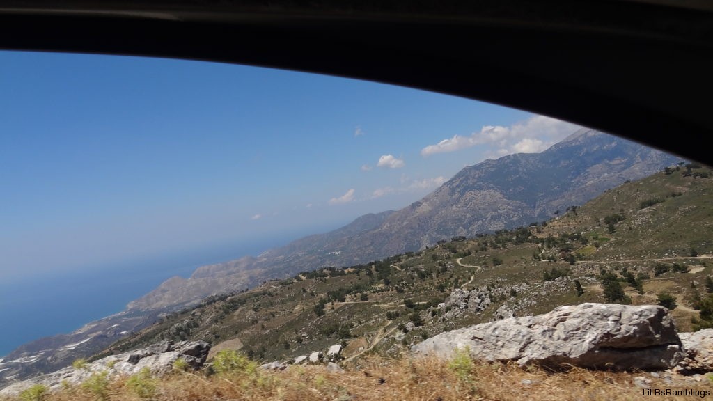
[{"label": "deep blue sea beyond the coastline, fading into haze", "polygon": [[168,278],[188,278],[202,265],[257,256],[294,238],[272,237],[11,283],[0,278],[0,359],[26,342],[71,333],[93,320],[119,313]]}]

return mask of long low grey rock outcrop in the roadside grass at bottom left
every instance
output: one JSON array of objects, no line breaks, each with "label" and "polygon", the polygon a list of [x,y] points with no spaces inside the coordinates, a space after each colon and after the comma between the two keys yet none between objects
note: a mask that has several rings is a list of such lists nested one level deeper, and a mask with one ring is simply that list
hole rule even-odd
[{"label": "long low grey rock outcrop in the roadside grass at bottom left", "polygon": [[36,384],[46,385],[51,390],[60,388],[63,382],[76,385],[91,375],[101,372],[107,372],[109,377],[133,375],[143,369],[148,369],[154,374],[162,374],[173,369],[173,362],[179,358],[193,369],[198,369],[205,362],[209,350],[210,345],[203,341],[160,342],[140,350],[96,360],[80,369],[65,367],[48,375],[16,382],[0,390],[0,396],[16,395]]}]

